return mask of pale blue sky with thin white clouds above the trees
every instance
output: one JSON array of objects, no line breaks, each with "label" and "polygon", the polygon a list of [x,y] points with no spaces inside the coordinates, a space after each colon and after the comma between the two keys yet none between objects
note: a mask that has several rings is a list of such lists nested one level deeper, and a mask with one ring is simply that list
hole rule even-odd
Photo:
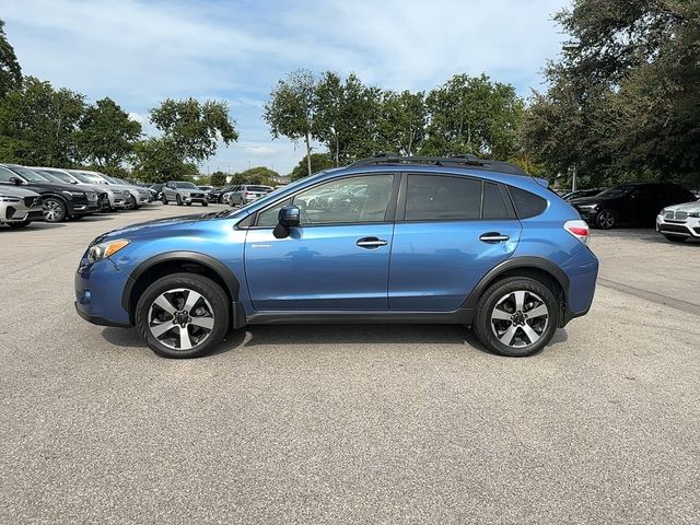
[{"label": "pale blue sky with thin white clouds above the trees", "polygon": [[303,149],[261,119],[277,81],[299,68],[429,90],[455,73],[541,89],[560,49],[564,0],[5,0],[0,16],[25,74],[110,96],[144,125],[165,97],[229,102],[240,141],[202,171],[289,173]]}]

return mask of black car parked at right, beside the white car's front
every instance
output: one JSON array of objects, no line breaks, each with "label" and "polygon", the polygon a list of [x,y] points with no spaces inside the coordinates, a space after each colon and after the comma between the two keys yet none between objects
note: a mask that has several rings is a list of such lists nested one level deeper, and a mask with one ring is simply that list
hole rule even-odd
[{"label": "black car parked at right, beside the white car's front", "polygon": [[696,200],[687,189],[672,183],[621,184],[594,197],[573,199],[571,205],[590,224],[609,230],[620,223],[653,225],[666,206]]}]

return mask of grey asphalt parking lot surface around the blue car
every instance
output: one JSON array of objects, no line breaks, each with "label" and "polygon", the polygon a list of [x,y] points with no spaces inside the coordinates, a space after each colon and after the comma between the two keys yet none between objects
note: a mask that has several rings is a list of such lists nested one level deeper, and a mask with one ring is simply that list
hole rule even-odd
[{"label": "grey asphalt parking lot surface around the blue car", "polygon": [[594,231],[590,315],[529,359],[374,325],[172,361],[78,317],[93,237],[194,211],[0,231],[0,523],[700,522],[700,243]]}]

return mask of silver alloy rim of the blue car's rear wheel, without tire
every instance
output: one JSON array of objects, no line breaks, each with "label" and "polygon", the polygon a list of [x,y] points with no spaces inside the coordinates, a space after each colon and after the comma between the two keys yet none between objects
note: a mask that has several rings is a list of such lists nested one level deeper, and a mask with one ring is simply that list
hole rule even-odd
[{"label": "silver alloy rim of the blue car's rear wheel, without tire", "polygon": [[549,310],[545,301],[530,291],[518,290],[503,295],[491,312],[491,329],[502,345],[525,348],[535,345],[547,330]]}]

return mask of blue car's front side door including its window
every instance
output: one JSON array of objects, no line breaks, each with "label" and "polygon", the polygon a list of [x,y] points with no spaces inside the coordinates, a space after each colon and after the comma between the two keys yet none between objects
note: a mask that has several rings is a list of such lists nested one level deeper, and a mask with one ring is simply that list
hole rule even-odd
[{"label": "blue car's front side door including its window", "polygon": [[[245,272],[257,311],[388,310],[387,285],[398,175],[349,176],[320,183],[258,213],[245,243]],[[396,180],[396,184],[395,184]],[[339,209],[318,196],[364,184],[361,201]],[[300,226],[285,238],[272,230],[285,203]],[[393,205],[392,205],[393,203]]]}]

